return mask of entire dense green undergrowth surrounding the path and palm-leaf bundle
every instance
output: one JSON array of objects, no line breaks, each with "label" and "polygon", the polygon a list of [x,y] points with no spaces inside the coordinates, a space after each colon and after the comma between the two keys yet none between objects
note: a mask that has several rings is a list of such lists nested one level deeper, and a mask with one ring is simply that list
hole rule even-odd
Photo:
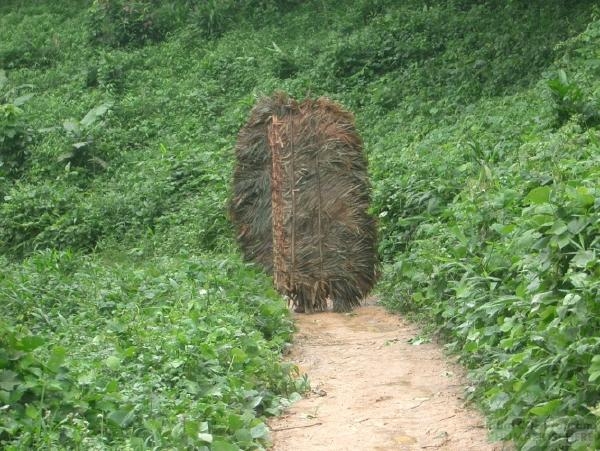
[{"label": "entire dense green undergrowth surrounding the path and palm-leaf bundle", "polygon": [[593,1],[0,6],[0,446],[260,449],[302,381],[227,221],[256,97],[357,115],[386,305],[497,438],[600,446]]}]

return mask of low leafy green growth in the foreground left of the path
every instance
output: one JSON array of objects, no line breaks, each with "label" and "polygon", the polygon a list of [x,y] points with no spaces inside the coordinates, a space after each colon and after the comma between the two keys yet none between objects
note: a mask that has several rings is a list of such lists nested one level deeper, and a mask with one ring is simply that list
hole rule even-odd
[{"label": "low leafy green growth in the foreground left of the path", "polygon": [[305,388],[270,282],[231,258],[110,260],[2,262],[0,447],[264,449]]}]

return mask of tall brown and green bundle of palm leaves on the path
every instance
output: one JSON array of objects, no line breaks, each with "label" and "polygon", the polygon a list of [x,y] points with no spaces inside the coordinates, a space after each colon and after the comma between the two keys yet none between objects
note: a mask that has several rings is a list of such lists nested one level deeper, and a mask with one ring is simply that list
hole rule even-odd
[{"label": "tall brown and green bundle of palm leaves on the path", "polygon": [[240,131],[231,217],[247,258],[297,311],[348,311],[376,279],[376,223],[353,116],[328,99],[261,100]]}]

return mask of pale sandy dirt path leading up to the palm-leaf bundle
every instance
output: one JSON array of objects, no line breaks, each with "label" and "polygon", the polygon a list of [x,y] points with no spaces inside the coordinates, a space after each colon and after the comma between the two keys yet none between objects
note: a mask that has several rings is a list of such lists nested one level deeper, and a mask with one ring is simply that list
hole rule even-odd
[{"label": "pale sandy dirt path leading up to the palm-leaf bundle", "polygon": [[296,316],[290,359],[311,394],[270,423],[274,451],[503,450],[464,406],[464,377],[419,329],[381,307]]}]

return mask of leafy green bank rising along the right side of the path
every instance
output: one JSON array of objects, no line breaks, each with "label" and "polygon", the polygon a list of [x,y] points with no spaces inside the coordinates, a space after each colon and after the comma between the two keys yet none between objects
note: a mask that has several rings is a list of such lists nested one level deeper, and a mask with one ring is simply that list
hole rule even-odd
[{"label": "leafy green bank rising along the right side of the path", "polygon": [[600,446],[599,36],[593,21],[555,41],[537,82],[448,93],[412,136],[382,131],[401,157],[372,162],[385,303],[439,325],[493,436],[520,449]]}]

